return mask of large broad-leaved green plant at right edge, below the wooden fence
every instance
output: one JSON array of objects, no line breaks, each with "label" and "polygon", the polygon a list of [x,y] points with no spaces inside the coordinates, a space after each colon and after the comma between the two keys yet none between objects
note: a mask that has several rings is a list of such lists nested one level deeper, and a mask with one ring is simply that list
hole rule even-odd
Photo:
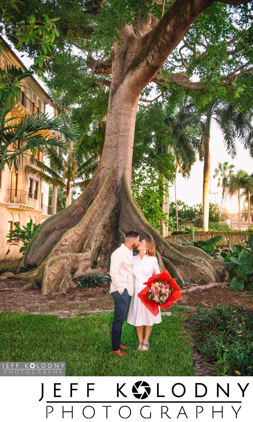
[{"label": "large broad-leaved green plant at right edge, below the wooden fence", "polygon": [[[244,285],[249,287],[250,290],[253,289],[253,235],[249,236],[248,244],[249,248],[242,245],[230,245],[231,253],[220,250],[219,259],[223,260],[233,277],[230,284],[232,290],[240,291]],[[242,285],[242,289],[238,284]]]}]

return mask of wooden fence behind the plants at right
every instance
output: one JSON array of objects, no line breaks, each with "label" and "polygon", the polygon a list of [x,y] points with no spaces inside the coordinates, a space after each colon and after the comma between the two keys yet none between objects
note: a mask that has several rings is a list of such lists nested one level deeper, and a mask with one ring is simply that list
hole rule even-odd
[{"label": "wooden fence behind the plants at right", "polygon": [[[224,232],[203,232],[203,233],[198,233],[195,232],[194,234],[194,241],[197,242],[199,240],[207,240],[207,239],[211,239],[212,237],[221,235],[221,240],[216,243],[216,248],[229,248],[229,245],[243,245],[243,246],[247,246],[247,243],[245,243],[245,241],[249,240],[249,236],[253,235],[253,232],[245,232],[245,233],[224,233]],[[178,243],[178,241],[181,241],[178,236],[182,236],[183,238],[185,238],[186,240],[188,240],[189,242],[191,241],[191,237],[190,237],[190,233],[184,233],[181,235],[171,235],[171,236],[166,236],[166,239],[168,239],[169,241],[173,242],[173,243]]]}]

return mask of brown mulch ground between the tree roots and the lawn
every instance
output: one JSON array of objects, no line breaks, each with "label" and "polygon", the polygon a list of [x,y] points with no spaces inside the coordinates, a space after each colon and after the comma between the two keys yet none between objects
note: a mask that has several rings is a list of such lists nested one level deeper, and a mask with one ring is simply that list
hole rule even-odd
[{"label": "brown mulch ground between the tree roots and the lawn", "polygon": [[[39,290],[19,291],[16,288],[23,287],[26,282],[14,279],[1,280],[0,278],[0,312],[22,312],[29,314],[55,314],[60,318],[73,318],[89,315],[90,312],[112,311],[113,300],[108,294],[108,287],[79,288],[72,287],[67,293],[49,293],[41,295]],[[2,290],[4,289],[4,290]],[[5,290],[6,289],[6,290]],[[188,333],[191,327],[188,323],[188,315],[196,312],[196,305],[201,303],[206,308],[213,304],[243,306],[253,311],[253,296],[233,292],[229,287],[213,287],[204,291],[195,290],[185,292],[183,289],[182,300],[176,305],[187,308],[184,311],[182,322]],[[170,308],[173,312],[173,306]],[[198,352],[196,345],[193,348],[193,360],[195,362],[196,376],[210,376],[212,366],[203,364],[203,358]]]}]

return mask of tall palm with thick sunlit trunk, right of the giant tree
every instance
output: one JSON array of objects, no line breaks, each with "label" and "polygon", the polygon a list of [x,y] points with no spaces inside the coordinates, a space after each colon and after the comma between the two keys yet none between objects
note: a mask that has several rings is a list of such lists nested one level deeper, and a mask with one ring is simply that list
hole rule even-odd
[{"label": "tall palm with thick sunlit trunk, right of the giant tree", "polygon": [[[189,111],[195,111],[193,103],[188,105]],[[208,231],[209,220],[209,190],[210,190],[210,127],[212,119],[215,120],[223,133],[223,144],[231,157],[236,155],[235,141],[237,137],[249,149],[253,157],[253,126],[251,124],[251,110],[237,112],[234,104],[226,103],[220,99],[213,99],[203,107],[200,112],[205,116],[205,128],[203,131],[204,171],[203,171],[203,229]],[[201,154],[200,154],[201,156]]]}]

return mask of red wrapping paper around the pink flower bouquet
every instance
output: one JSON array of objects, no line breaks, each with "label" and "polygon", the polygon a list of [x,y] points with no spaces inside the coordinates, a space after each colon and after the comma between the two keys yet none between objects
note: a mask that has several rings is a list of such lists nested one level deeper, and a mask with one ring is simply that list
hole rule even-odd
[{"label": "red wrapping paper around the pink flower bouquet", "polygon": [[[148,290],[152,283],[155,283],[155,281],[159,279],[163,281],[164,283],[168,283],[169,286],[173,289],[173,292],[169,296],[169,298],[164,302],[162,305],[158,305],[158,303],[154,302],[153,300],[150,300],[148,298]],[[174,279],[171,278],[169,271],[167,271],[165,268],[163,269],[163,272],[160,274],[156,274],[155,276],[150,277],[148,281],[145,283],[147,286],[144,287],[139,293],[138,298],[141,300],[141,302],[146,306],[146,308],[156,317],[159,314],[159,308],[160,306],[164,311],[168,309],[176,300],[179,300],[182,298],[181,295],[181,288],[176,283]]]}]

